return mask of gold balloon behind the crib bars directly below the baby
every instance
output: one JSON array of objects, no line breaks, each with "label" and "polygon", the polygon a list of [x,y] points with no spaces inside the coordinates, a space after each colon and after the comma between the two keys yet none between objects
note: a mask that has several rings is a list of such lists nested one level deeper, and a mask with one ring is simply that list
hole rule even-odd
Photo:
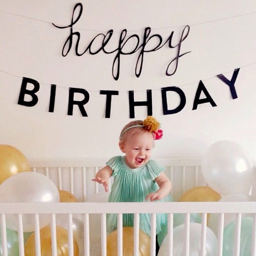
[{"label": "gold balloon behind the crib bars directly below the baby", "polygon": [[[133,227],[123,228],[123,255],[133,256]],[[107,237],[107,256],[118,255],[117,230]],[[150,256],[150,237],[139,230],[139,256]]]}]

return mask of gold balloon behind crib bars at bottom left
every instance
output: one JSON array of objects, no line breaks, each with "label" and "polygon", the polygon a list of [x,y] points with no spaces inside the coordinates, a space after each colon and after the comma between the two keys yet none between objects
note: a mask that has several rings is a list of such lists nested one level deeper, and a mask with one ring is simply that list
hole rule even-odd
[{"label": "gold balloon behind crib bars at bottom left", "polygon": [[[57,255],[69,255],[68,233],[65,228],[56,226]],[[41,256],[49,256],[51,253],[51,227],[46,226],[40,229]],[[77,242],[74,240],[74,256],[78,256]],[[36,256],[35,234],[33,233],[25,244],[25,256]]]}]

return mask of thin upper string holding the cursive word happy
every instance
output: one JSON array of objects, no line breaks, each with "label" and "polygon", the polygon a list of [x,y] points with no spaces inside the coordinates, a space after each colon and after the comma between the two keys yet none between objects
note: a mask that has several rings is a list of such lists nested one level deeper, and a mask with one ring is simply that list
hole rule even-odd
[{"label": "thin upper string holding the cursive word happy", "polygon": [[[14,16],[18,16],[18,17],[22,17],[22,18],[26,18],[26,19],[30,19],[30,20],[41,21],[41,22],[49,23],[49,24],[52,25],[52,23],[51,23],[50,21],[46,21],[46,20],[31,18],[31,17],[27,17],[27,16],[25,16],[25,15],[20,15],[20,14],[15,14],[15,13],[9,13],[9,12],[5,12],[5,11],[3,11],[3,10],[0,10],[0,12],[6,13],[6,14],[10,14],[10,15],[14,15]],[[207,20],[207,21],[200,22],[200,23],[190,24],[189,26],[199,26],[199,25],[202,25],[202,24],[207,24],[207,23],[212,23],[212,22],[217,22],[217,21],[222,21],[222,20],[228,20],[228,19],[233,19],[233,18],[237,18],[237,17],[242,17],[242,16],[245,16],[245,15],[252,15],[252,14],[255,14],[255,13],[256,13],[256,12],[243,13],[243,14],[240,14],[240,15],[234,15],[234,16],[225,17],[225,18],[220,18],[220,19],[216,19],[216,20]],[[64,26],[64,25],[57,24],[57,23],[54,23],[54,24],[55,24],[55,25],[58,25],[58,26]],[[163,27],[163,28],[151,28],[151,30],[170,29],[170,28],[183,28],[184,26],[185,26],[185,25],[183,25],[183,26]],[[74,28],[74,29],[78,29],[78,30],[94,31],[94,32],[99,32],[99,33],[105,33],[105,32],[106,32],[106,31],[100,31],[100,30],[89,29],[89,28],[78,28],[78,27],[73,27],[73,28]],[[138,32],[138,31],[141,31],[141,30],[129,30],[129,31],[127,31],[127,32]],[[120,33],[120,32],[114,31],[113,33]]]}]

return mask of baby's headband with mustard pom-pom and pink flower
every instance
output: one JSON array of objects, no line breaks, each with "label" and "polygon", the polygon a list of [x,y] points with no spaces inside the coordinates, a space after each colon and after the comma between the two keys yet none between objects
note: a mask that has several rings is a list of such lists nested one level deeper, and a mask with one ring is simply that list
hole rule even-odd
[{"label": "baby's headband with mustard pom-pom and pink flower", "polygon": [[119,139],[122,138],[123,134],[135,127],[143,127],[148,132],[152,133],[154,140],[160,140],[163,137],[163,130],[159,129],[160,123],[153,116],[149,115],[146,119],[143,120],[143,125],[132,125],[126,128],[120,135]]}]

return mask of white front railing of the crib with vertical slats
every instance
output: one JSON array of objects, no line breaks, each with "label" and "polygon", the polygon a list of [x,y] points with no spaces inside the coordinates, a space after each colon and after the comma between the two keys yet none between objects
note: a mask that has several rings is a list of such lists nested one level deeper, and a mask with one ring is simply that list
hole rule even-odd
[{"label": "white front railing of the crib with vertical slats", "polygon": [[90,214],[101,214],[101,251],[102,256],[107,255],[107,233],[106,233],[106,213],[118,214],[118,256],[122,256],[122,214],[134,214],[134,255],[138,256],[138,230],[139,230],[139,213],[151,213],[151,256],[154,256],[156,245],[156,213],[168,214],[168,255],[173,255],[173,214],[185,214],[185,236],[184,248],[185,256],[189,256],[189,218],[190,213],[200,212],[202,215],[201,229],[201,251],[200,255],[206,253],[206,227],[207,213],[219,213],[218,223],[218,256],[223,253],[223,223],[226,213],[236,212],[236,233],[235,233],[235,256],[239,256],[240,251],[240,232],[241,232],[241,215],[243,213],[253,213],[253,237],[251,255],[256,256],[256,207],[255,202],[145,202],[145,203],[0,203],[1,213],[1,235],[3,255],[7,256],[7,238],[5,216],[8,214],[18,214],[19,221],[19,255],[24,255],[23,244],[23,225],[22,215],[33,214],[35,223],[35,244],[36,256],[41,255],[40,251],[40,230],[39,230],[39,214],[51,214],[51,243],[52,255],[56,256],[56,214],[67,214],[68,240],[69,240],[69,256],[73,255],[73,233],[72,233],[72,216],[73,214],[83,214],[84,216],[84,255],[90,255],[90,230],[89,216]]}]

